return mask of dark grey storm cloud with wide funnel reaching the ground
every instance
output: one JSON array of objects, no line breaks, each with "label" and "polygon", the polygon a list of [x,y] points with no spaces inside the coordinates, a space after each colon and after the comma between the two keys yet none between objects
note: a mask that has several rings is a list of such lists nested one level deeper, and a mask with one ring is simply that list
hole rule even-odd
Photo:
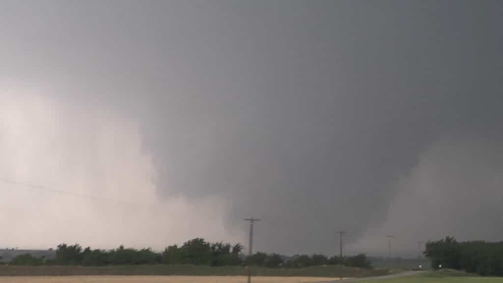
[{"label": "dark grey storm cloud with wide funnel reaching the ground", "polygon": [[[388,233],[369,227],[399,230],[407,219],[389,226],[389,207],[417,187],[414,168],[429,164],[421,156],[449,153],[438,150],[445,140],[467,151],[489,145],[501,160],[498,2],[8,7],[2,24],[16,28],[4,28],[3,75],[137,120],[159,198],[223,197],[229,229],[244,227],[244,217],[265,218],[257,228],[262,250],[334,251],[340,229],[353,243]],[[501,172],[495,168],[491,176]],[[469,169],[459,182],[481,174]],[[456,193],[440,183],[432,186]],[[499,197],[493,184],[463,199],[478,193]],[[434,208],[456,210],[451,205]],[[470,223],[484,216],[477,210],[452,231],[471,235]],[[445,235],[402,239],[433,236]]]}]

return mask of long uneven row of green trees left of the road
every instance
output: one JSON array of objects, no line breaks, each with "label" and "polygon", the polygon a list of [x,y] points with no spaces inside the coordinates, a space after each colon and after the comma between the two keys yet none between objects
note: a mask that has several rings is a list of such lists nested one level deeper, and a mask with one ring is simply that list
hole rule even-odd
[{"label": "long uneven row of green trees left of the road", "polygon": [[182,246],[173,245],[162,252],[150,248],[133,249],[120,246],[117,249],[103,250],[82,248],[80,245],[60,244],[54,258],[34,257],[23,254],[13,258],[11,265],[136,265],[136,264],[192,264],[208,266],[253,265],[269,268],[302,268],[317,265],[341,264],[351,267],[370,268],[370,260],[360,254],[340,258],[330,258],[322,254],[295,255],[285,257],[280,254],[257,252],[251,256],[243,255],[241,244],[210,243],[202,238],[185,242]]}]

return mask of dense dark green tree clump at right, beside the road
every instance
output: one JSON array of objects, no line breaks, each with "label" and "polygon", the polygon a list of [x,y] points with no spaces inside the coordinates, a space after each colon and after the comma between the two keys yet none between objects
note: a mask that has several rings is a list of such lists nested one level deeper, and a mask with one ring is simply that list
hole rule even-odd
[{"label": "dense dark green tree clump at right, beside the road", "polygon": [[482,276],[503,276],[503,242],[458,242],[453,237],[426,243],[432,267],[452,268]]}]

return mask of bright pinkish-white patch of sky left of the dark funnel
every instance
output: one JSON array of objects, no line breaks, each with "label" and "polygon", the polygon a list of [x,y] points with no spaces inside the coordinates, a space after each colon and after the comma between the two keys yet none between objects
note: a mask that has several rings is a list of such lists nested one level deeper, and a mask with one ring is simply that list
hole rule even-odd
[{"label": "bright pinkish-white patch of sky left of the dark funnel", "polygon": [[106,109],[0,82],[0,247],[162,249],[194,237],[243,242],[224,227],[225,199],[157,197],[139,125]]}]

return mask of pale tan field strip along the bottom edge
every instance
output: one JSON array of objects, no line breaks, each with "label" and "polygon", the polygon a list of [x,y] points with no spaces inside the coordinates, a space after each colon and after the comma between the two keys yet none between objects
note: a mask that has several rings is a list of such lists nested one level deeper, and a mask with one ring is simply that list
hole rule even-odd
[{"label": "pale tan field strip along the bottom edge", "polygon": [[[256,276],[259,283],[309,283],[330,277]],[[0,283],[245,283],[245,276],[2,276]]]}]

